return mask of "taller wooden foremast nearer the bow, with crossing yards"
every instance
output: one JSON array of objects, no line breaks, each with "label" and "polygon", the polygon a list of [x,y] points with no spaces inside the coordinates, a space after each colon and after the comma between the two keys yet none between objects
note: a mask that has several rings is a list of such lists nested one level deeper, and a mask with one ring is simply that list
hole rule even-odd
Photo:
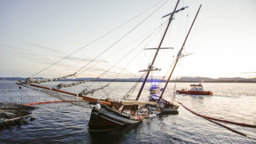
[{"label": "taller wooden foremast nearer the bow, with crossing yards", "polygon": [[[180,2],[180,0],[178,0],[176,6],[175,6],[175,8],[174,8],[174,11],[176,11],[176,8],[177,8],[179,2]],[[156,53],[155,53],[155,56],[154,56],[154,58],[153,58],[153,60],[152,60],[151,65],[148,66],[148,69],[151,69],[151,68],[152,68],[152,66],[153,66],[153,64],[154,64],[154,62],[155,62],[155,60],[156,60],[156,56],[157,56],[157,54],[158,54],[158,51],[159,51],[159,49],[160,49],[160,47],[161,47],[161,45],[162,45],[162,42],[163,42],[164,37],[165,37],[165,35],[166,35],[166,32],[167,32],[167,30],[168,30],[168,28],[169,28],[169,26],[170,26],[170,23],[172,22],[172,16],[173,16],[173,15],[174,15],[174,13],[170,15],[169,22],[168,22],[168,24],[167,24],[167,26],[166,26],[166,29],[165,29],[164,35],[163,35],[163,37],[162,37],[162,40],[161,40],[161,42],[160,42],[160,44],[159,44],[159,46],[158,46],[158,48],[157,48],[157,50],[156,50]],[[146,81],[147,81],[147,79],[148,79],[149,73],[150,73],[150,71],[148,71],[147,74],[146,74],[146,77],[145,77],[145,79],[144,79],[144,81],[143,81],[143,83],[142,83],[142,86],[140,87],[140,91],[138,92],[138,95],[137,95],[137,97],[136,97],[136,100],[139,100],[139,98],[140,98],[140,94],[141,94],[141,92],[142,92],[142,90],[143,90],[143,88],[144,88],[144,86],[145,86],[145,84],[146,84]]]}]

